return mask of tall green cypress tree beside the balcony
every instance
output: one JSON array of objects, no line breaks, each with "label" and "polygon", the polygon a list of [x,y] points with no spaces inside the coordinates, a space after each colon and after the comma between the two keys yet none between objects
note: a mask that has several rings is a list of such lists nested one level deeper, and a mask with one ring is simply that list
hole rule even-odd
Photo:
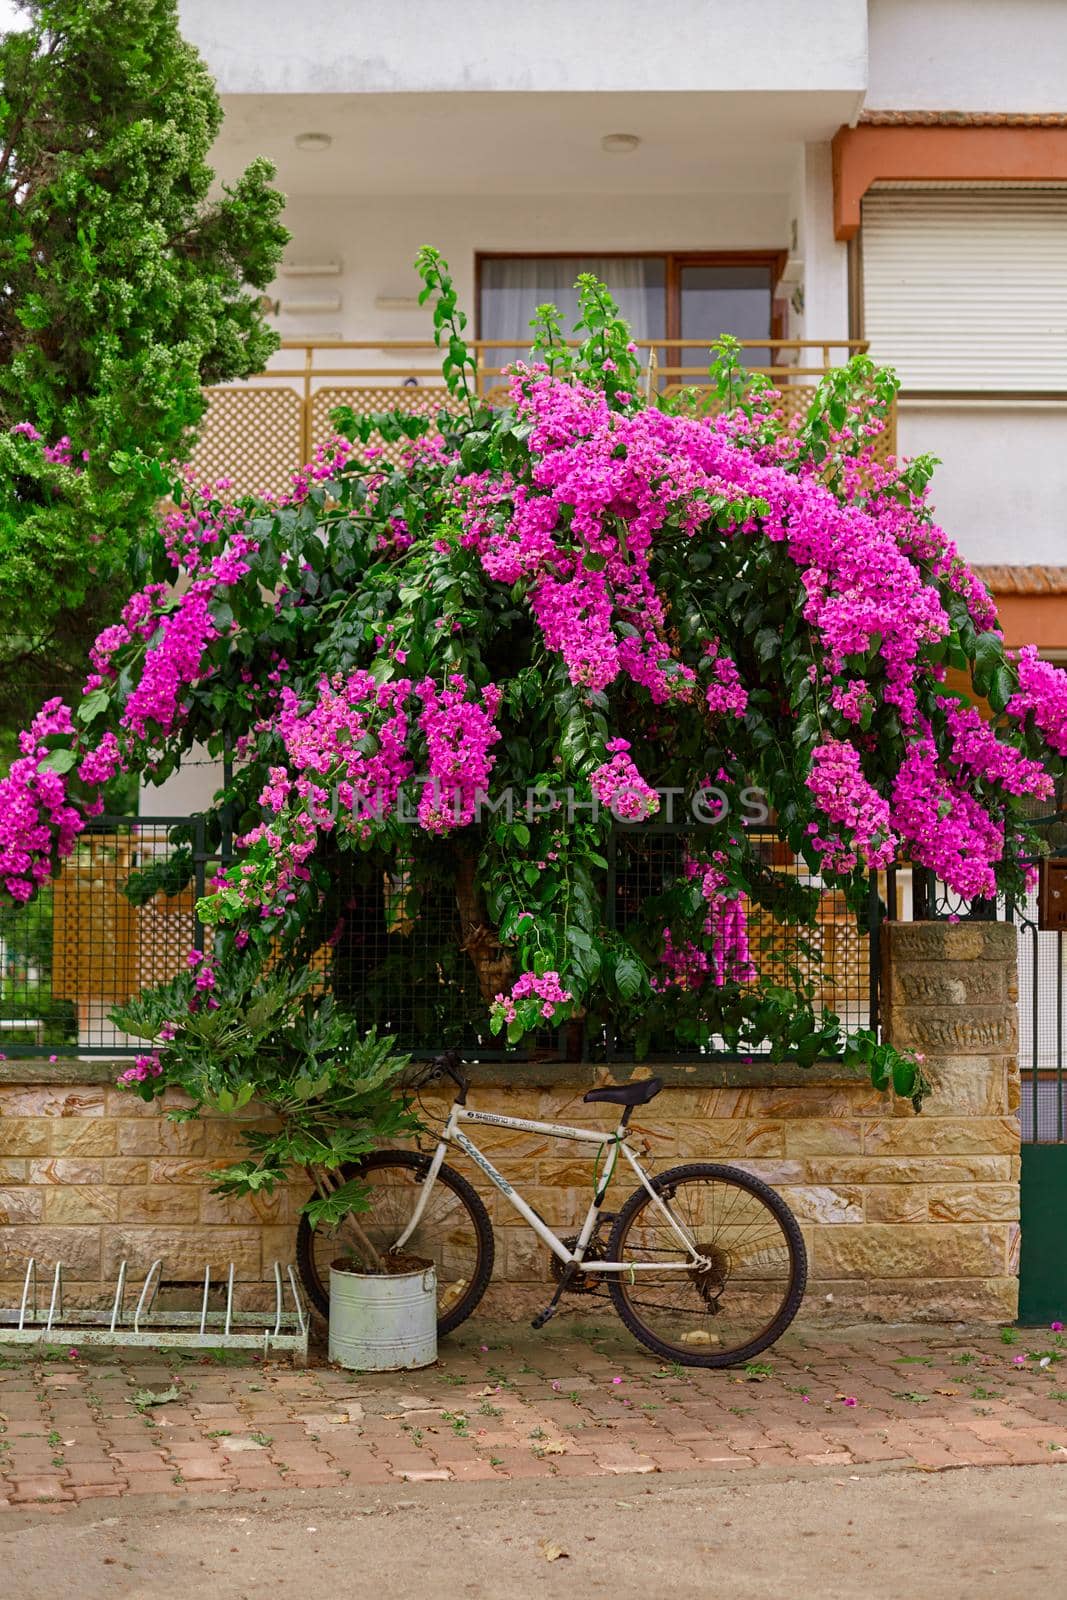
[{"label": "tall green cypress tree beside the balcony", "polygon": [[202,386],[274,350],[288,238],[269,162],[214,186],[222,110],[176,0],[22,11],[0,37],[0,726],[80,675]]}]

